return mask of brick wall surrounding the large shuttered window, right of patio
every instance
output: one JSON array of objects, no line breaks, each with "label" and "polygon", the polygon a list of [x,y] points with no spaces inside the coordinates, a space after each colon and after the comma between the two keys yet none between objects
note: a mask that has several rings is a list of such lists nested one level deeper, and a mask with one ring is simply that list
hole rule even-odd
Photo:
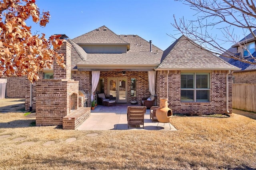
[{"label": "brick wall surrounding the large shuttered window, right of patio", "polygon": [[[180,101],[180,71],[170,71],[168,76],[168,95],[172,103],[173,113],[186,114],[192,110],[198,110],[202,114],[226,113],[226,74],[228,71],[212,71],[210,73],[210,102],[181,102]],[[157,71],[156,94],[157,105],[160,98],[166,98],[166,74],[167,71]],[[229,79],[229,111],[232,113],[232,74]]]}]

